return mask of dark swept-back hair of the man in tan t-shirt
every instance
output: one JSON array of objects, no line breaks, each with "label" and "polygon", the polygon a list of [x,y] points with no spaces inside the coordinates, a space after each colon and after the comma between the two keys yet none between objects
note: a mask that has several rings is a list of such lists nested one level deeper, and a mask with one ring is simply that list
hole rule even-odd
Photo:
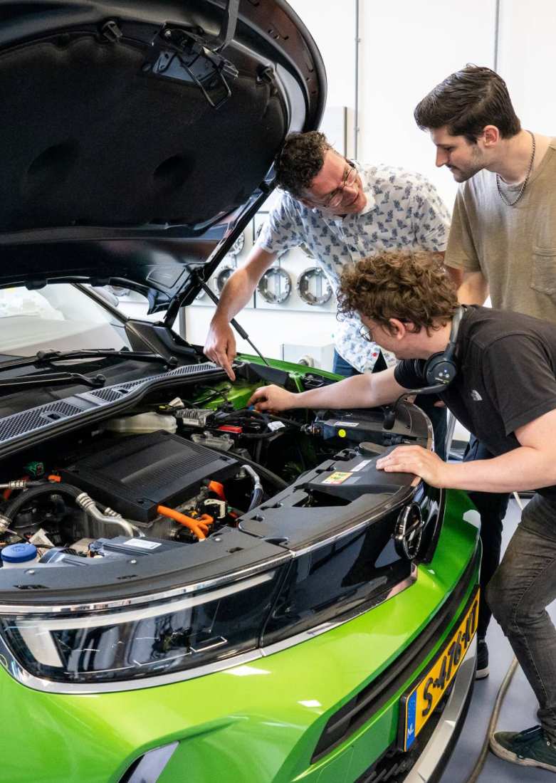
[{"label": "dark swept-back hair of the man in tan t-shirt", "polygon": [[520,132],[506,82],[490,68],[468,65],[436,85],[417,103],[413,117],[422,131],[442,128],[476,143],[486,125],[496,125],[503,139]]}]

